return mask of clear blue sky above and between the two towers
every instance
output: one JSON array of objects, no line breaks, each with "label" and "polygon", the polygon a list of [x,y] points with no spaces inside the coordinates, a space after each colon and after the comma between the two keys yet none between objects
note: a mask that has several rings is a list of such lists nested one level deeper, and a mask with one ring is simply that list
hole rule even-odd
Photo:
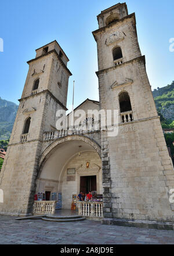
[{"label": "clear blue sky above and between the two towers", "polygon": [[[119,1],[124,2],[124,1]],[[1,1],[0,86],[2,99],[19,104],[26,80],[27,60],[35,49],[57,40],[70,62],[67,106],[72,102],[75,80],[75,107],[86,98],[99,100],[97,48],[92,31],[98,28],[96,16],[118,3],[115,0],[6,0]],[[174,80],[174,1],[127,0],[129,14],[136,13],[137,34],[142,55],[146,55],[147,74],[152,88]]]}]

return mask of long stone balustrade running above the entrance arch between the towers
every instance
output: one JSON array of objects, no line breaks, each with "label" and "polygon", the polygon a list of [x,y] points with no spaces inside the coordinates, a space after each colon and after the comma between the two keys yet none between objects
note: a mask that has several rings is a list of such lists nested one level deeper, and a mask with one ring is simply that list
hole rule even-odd
[{"label": "long stone balustrade running above the entrance arch between the towers", "polygon": [[51,140],[51,139],[59,139],[68,135],[84,135],[84,134],[91,134],[92,132],[98,132],[96,130],[61,130],[61,131],[50,131],[44,132],[43,140]]}]

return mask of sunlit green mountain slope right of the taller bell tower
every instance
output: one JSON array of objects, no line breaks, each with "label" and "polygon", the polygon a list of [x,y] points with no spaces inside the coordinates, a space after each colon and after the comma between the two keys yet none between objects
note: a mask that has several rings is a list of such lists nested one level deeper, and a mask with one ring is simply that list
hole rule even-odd
[{"label": "sunlit green mountain slope right of the taller bell tower", "polygon": [[157,110],[168,120],[174,120],[174,81],[171,85],[155,89],[153,96]]}]

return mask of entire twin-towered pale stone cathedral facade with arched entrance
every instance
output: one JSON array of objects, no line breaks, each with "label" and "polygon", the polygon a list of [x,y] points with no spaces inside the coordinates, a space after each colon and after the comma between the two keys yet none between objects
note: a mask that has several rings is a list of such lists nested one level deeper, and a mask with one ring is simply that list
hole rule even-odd
[{"label": "entire twin-towered pale stone cathedral facade with arched entrance", "polygon": [[85,100],[74,116],[78,110],[118,110],[118,134],[109,136],[100,125],[88,129],[95,121],[86,114],[82,125],[87,129],[56,128],[57,110],[67,110],[68,57],[57,41],[37,49],[35,59],[27,62],[0,173],[0,214],[32,214],[34,194],[42,191],[61,192],[63,208],[70,209],[72,195],[83,189],[103,194],[103,223],[173,222],[173,165],[140,52],[135,13],[129,15],[126,3],[118,3],[97,20],[93,36],[100,100]]}]

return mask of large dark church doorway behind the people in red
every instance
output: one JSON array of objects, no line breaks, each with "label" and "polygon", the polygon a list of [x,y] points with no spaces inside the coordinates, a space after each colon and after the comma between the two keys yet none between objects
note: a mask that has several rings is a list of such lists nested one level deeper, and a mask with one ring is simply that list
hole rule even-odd
[{"label": "large dark church doorway behind the people in red", "polygon": [[94,176],[81,176],[80,178],[80,191],[88,193],[89,191],[97,191],[97,177]]}]

